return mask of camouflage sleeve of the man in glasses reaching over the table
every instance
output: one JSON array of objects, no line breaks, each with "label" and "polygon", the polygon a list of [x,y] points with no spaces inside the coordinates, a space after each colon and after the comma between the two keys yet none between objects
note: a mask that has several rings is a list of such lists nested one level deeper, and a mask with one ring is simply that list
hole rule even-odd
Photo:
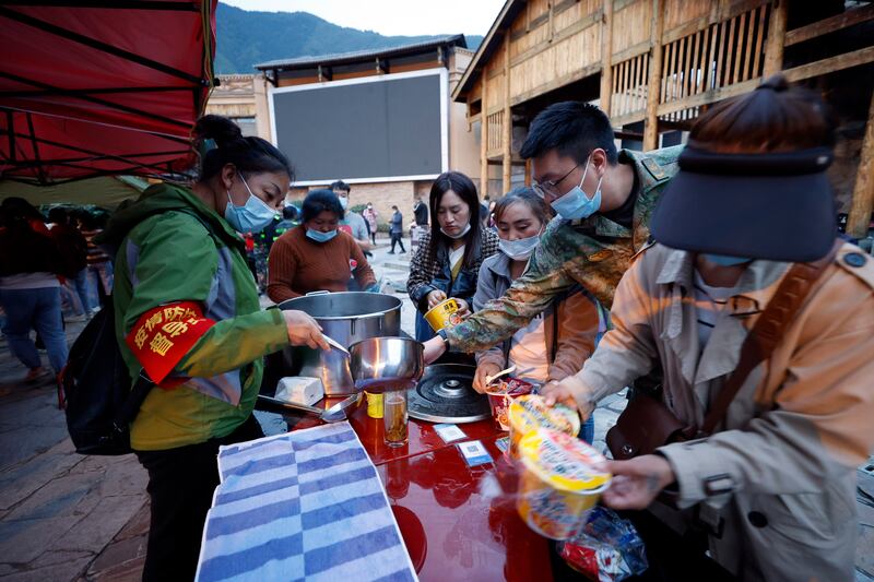
[{"label": "camouflage sleeve of the man in glasses reaching over the table", "polygon": [[528,270],[503,297],[447,330],[452,349],[472,354],[507,340],[574,284],[566,269],[567,247],[555,226],[547,228]]}]

